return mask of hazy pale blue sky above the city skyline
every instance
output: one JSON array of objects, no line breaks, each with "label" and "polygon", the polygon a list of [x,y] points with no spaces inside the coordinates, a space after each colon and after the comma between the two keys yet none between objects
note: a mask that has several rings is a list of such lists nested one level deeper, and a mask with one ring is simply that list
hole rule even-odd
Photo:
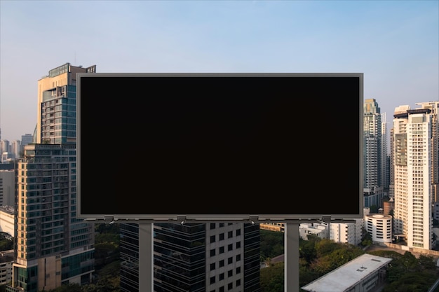
[{"label": "hazy pale blue sky above the city skyline", "polygon": [[439,100],[439,1],[0,0],[1,139],[34,132],[37,82],[67,62],[100,73],[363,73],[365,98],[391,123],[396,106]]}]

